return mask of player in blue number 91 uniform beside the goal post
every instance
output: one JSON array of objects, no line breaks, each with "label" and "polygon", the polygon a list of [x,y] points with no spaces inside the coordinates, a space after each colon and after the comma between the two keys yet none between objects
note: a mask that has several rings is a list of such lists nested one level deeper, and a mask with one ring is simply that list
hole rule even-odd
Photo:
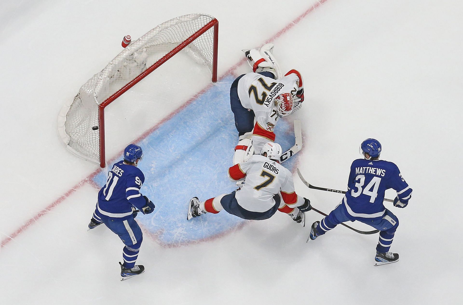
[{"label": "player in blue number 91 uniform beside the goal post", "polygon": [[135,265],[138,251],[143,241],[140,227],[135,221],[136,212],[149,214],[154,204],[140,193],[144,183],[144,174],[137,168],[143,159],[140,146],[130,144],[124,150],[124,160],[114,163],[109,171],[106,184],[98,193],[98,201],[89,229],[106,224],[125,244],[122,250],[124,263],[120,263],[121,280],[144,272],[143,265]]}]

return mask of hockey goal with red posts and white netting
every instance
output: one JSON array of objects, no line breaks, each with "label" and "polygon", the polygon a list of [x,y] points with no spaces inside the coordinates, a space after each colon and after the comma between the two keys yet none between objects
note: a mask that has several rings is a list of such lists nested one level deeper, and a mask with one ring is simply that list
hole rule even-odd
[{"label": "hockey goal with red posts and white netting", "polygon": [[218,30],[212,16],[189,14],[132,41],[63,106],[58,116],[63,143],[75,155],[105,167],[105,107],[180,51],[207,66],[217,81]]}]

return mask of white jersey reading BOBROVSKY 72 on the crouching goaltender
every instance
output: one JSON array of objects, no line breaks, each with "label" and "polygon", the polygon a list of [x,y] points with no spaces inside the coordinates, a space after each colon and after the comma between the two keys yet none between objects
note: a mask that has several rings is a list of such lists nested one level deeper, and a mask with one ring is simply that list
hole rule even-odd
[{"label": "white jersey reading BOBROVSKY 72 on the crouching goaltender", "polygon": [[245,74],[238,81],[238,97],[244,108],[251,109],[255,115],[252,134],[254,151],[259,153],[262,146],[275,141],[273,128],[278,120],[275,98],[282,93],[295,94],[299,77],[292,73],[274,80],[258,73]]}]

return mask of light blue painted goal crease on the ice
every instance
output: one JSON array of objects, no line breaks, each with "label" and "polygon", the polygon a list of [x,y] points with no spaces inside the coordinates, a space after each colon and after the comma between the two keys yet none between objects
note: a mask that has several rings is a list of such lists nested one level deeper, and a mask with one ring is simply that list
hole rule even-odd
[{"label": "light blue painted goal crease on the ice", "polygon": [[[230,109],[230,86],[225,77],[175,114],[139,143],[145,175],[141,193],[156,205],[154,212],[137,222],[163,245],[183,245],[232,231],[246,221],[226,212],[205,214],[187,221],[189,200],[230,193],[237,188],[228,178],[238,131]],[[275,126],[283,151],[294,145],[293,124],[281,119]],[[297,157],[284,163],[293,168]],[[120,159],[122,160],[122,155]],[[103,187],[106,172],[94,177]]]}]

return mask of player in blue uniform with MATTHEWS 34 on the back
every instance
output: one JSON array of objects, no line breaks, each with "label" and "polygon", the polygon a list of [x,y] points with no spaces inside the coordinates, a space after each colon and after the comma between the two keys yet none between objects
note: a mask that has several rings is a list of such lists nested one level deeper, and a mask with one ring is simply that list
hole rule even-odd
[{"label": "player in blue uniform with MATTHEWS 34 on the back", "polygon": [[404,208],[412,197],[412,189],[403,179],[397,165],[379,160],[381,144],[378,140],[363,141],[360,153],[363,159],[355,160],[350,166],[344,198],[328,216],[312,224],[310,239],[314,240],[345,221],[358,220],[380,230],[375,266],[398,261],[399,255],[389,252],[389,248],[399,220],[384,207],[384,192],[393,188],[397,192],[394,206]]}]

